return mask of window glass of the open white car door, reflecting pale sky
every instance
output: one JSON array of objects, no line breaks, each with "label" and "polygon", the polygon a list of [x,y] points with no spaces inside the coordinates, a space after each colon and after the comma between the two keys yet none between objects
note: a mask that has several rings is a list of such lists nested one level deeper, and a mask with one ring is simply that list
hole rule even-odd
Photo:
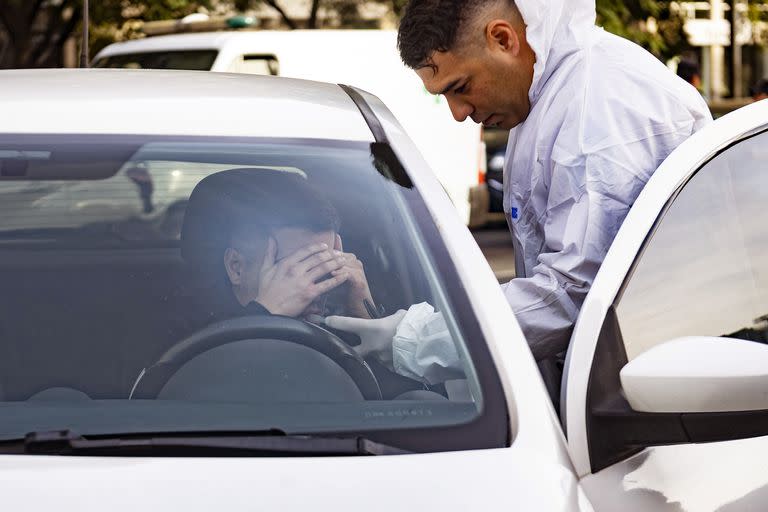
[{"label": "window glass of the open white car door, reflecting pale sky", "polygon": [[661,219],[617,307],[629,360],[680,336],[768,341],[767,142],[712,159]]}]

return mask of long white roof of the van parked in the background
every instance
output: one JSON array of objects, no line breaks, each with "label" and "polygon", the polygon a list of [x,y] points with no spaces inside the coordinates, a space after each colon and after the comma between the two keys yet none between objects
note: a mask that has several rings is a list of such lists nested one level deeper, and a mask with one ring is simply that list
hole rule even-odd
[{"label": "long white roof of the van parked in the background", "polygon": [[[246,32],[198,32],[145,37],[120,43],[112,43],[101,50],[94,60],[110,55],[172,50],[221,50],[227,45],[280,43],[278,47],[305,44],[329,45],[343,48],[350,39],[355,44],[385,41],[394,48],[397,33],[394,30],[258,30]],[[340,46],[341,45],[341,46]]]}]

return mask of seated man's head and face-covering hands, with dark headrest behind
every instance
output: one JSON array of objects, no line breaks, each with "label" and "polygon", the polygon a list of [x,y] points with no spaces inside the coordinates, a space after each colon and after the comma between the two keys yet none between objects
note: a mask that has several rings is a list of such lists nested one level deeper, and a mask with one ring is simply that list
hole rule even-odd
[{"label": "seated man's head and face-covering hands, with dark headrest behind", "polygon": [[343,251],[333,205],[296,173],[232,169],[203,179],[182,228],[188,264],[176,340],[247,315],[369,318],[362,262]]}]

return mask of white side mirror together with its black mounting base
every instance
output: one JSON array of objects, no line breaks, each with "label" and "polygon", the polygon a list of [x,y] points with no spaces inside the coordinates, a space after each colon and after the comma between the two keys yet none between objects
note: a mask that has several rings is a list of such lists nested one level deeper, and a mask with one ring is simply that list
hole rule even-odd
[{"label": "white side mirror together with its black mounting base", "polygon": [[593,473],[649,446],[768,436],[768,345],[678,338],[619,370],[620,333],[600,341],[587,419],[599,440],[589,448]]}]

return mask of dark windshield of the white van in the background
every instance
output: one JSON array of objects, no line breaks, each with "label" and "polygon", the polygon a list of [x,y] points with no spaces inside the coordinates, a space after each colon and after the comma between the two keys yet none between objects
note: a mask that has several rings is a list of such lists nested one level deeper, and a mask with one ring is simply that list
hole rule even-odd
[{"label": "dark windshield of the white van in the background", "polygon": [[209,71],[213,61],[216,60],[216,55],[218,55],[216,50],[123,53],[101,57],[93,63],[93,67]]}]

